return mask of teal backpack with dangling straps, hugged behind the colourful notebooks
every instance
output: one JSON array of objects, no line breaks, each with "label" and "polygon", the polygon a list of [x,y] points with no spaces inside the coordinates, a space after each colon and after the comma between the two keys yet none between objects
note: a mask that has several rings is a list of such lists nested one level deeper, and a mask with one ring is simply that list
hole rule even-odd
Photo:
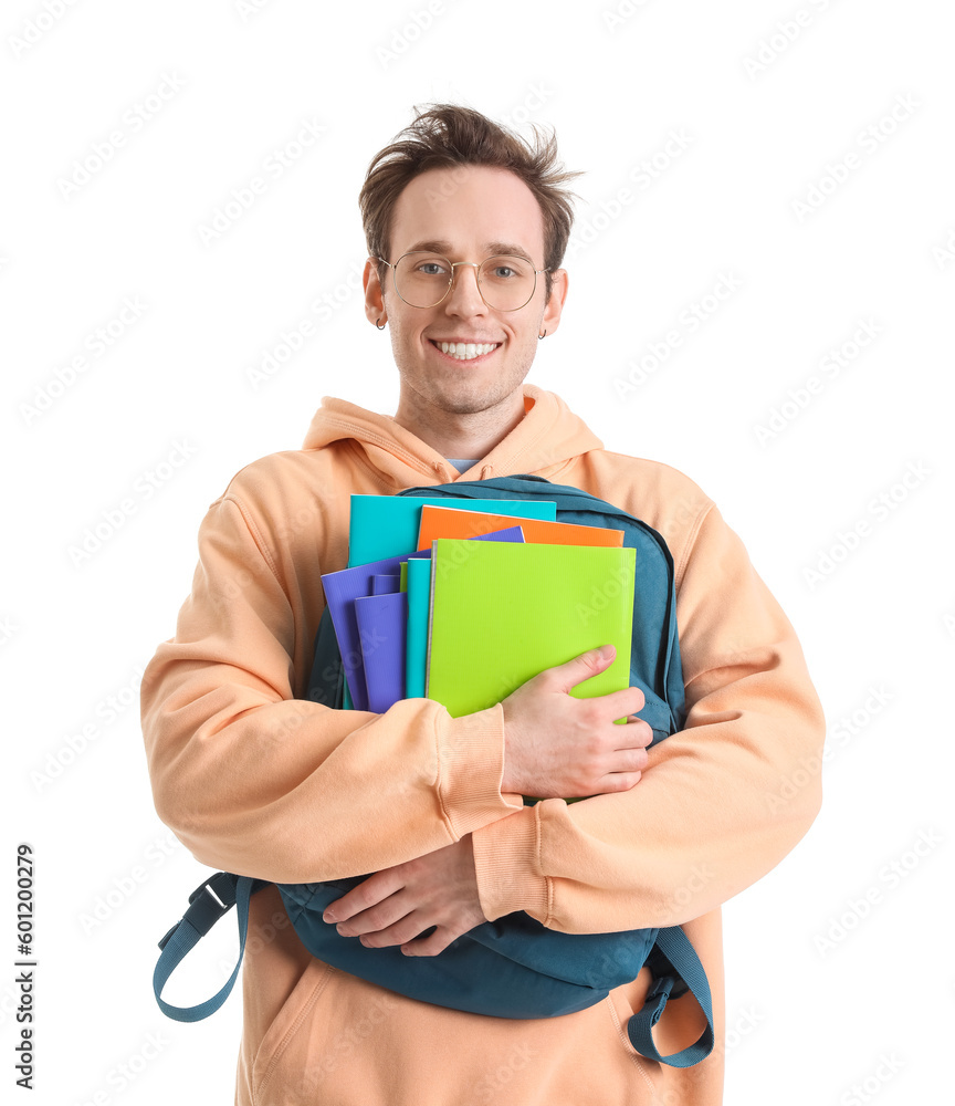
[{"label": "teal backpack with dangling straps, hugged behind the colourful notebooks", "polygon": [[[639,712],[653,731],[653,743],[682,728],[685,720],[683,672],[676,636],[673,560],[661,535],[632,515],[578,488],[541,477],[516,476],[409,488],[401,495],[449,499],[533,499],[557,503],[557,521],[623,530],[623,544],[637,551],[637,587],[630,682],[644,695]],[[340,708],[344,677],[334,628],[326,607],[315,638],[308,699]],[[525,800],[533,802],[533,800]],[[627,1026],[642,1056],[672,1067],[690,1067],[713,1048],[713,1011],[706,973],[679,926],[617,933],[564,933],[547,929],[523,911],[484,922],[435,957],[406,957],[400,948],[366,948],[357,937],[342,937],[322,914],[330,902],[368,878],[369,873],[314,884],[279,884],[288,917],[305,948],[317,959],[408,998],[496,1018],[555,1018],[600,1002],[616,987],[649,967],[653,982],[642,1010]],[[177,1021],[199,1021],[228,998],[238,978],[249,924],[249,899],[267,881],[220,872],[189,898],[189,909],[159,942],[153,975],[156,1001]],[[228,910],[237,906],[239,962],[218,994],[195,1006],[174,1006],[162,988],[182,958]],[[706,1027],[692,1045],[661,1055],[652,1039],[667,1002],[692,992]]]}]

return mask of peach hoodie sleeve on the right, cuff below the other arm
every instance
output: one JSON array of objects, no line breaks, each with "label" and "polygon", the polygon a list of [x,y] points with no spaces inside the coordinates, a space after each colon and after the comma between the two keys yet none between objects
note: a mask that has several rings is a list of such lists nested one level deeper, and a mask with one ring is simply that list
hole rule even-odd
[{"label": "peach hoodie sleeve on the right, cuff below the other arm", "polygon": [[[695,540],[694,540],[695,538]],[[712,503],[678,626],[689,714],[628,792],[550,799],[473,834],[482,907],[565,932],[679,925],[802,837],[821,801],[821,706],[793,626]]]}]

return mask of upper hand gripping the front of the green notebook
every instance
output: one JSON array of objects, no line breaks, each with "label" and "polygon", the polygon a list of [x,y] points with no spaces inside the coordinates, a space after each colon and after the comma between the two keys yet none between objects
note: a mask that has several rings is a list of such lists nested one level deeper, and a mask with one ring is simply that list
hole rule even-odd
[{"label": "upper hand gripping the front of the green notebook", "polygon": [[[629,791],[647,766],[653,731],[634,711],[639,688],[577,699],[570,688],[613,662],[612,645],[590,649],[527,680],[502,702],[501,790],[537,799],[576,799]],[[626,726],[616,719],[627,718]]]}]

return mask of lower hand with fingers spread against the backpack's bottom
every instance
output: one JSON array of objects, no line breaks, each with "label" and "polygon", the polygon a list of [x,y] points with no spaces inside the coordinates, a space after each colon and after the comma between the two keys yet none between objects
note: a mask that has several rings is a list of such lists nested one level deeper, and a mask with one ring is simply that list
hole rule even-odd
[{"label": "lower hand with fingers spread against the backpack's bottom", "polygon": [[[400,945],[406,956],[437,956],[487,920],[478,897],[471,834],[376,872],[329,902],[322,917],[337,921],[338,932],[345,937],[360,935],[368,948]],[[432,926],[437,927],[433,933],[414,940]]]}]

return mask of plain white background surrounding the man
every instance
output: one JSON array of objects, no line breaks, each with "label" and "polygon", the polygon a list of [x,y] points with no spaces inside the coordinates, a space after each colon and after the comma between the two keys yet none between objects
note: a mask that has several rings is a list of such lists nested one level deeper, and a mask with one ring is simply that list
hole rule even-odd
[{"label": "plain white background surrounding the man", "polygon": [[[587,170],[567,311],[529,379],[608,448],[668,461],[716,500],[826,707],[822,813],[725,909],[726,1102],[942,1100],[955,998],[951,8],[244,8],[11,0],[0,18],[4,1098],[25,1094],[12,962],[27,841],[30,1100],[232,1102],[238,993],[198,1025],[168,1022],[151,995],[155,942],[204,869],[154,813],[137,674],[174,632],[199,522],[233,472],[301,445],[324,395],[393,410],[387,334],[348,285],[365,258],[356,198],[412,105],[452,100],[555,126],[568,167]],[[321,137],[290,147],[301,157],[203,241],[306,123]],[[667,154],[671,133],[682,148]],[[84,180],[74,163],[87,159]],[[626,187],[632,202],[615,207]],[[706,301],[721,274],[737,289]],[[249,371],[323,294],[332,317],[254,387]],[[138,317],[96,347],[127,298]],[[694,304],[718,306],[691,332],[679,320]],[[827,374],[862,322],[877,336]],[[653,362],[674,328],[681,344]],[[760,440],[774,408],[781,429]],[[182,463],[164,466],[170,455]],[[97,525],[105,540],[77,556]],[[207,959],[228,957],[228,926]],[[177,994],[198,1001],[220,977],[196,964]]]}]

